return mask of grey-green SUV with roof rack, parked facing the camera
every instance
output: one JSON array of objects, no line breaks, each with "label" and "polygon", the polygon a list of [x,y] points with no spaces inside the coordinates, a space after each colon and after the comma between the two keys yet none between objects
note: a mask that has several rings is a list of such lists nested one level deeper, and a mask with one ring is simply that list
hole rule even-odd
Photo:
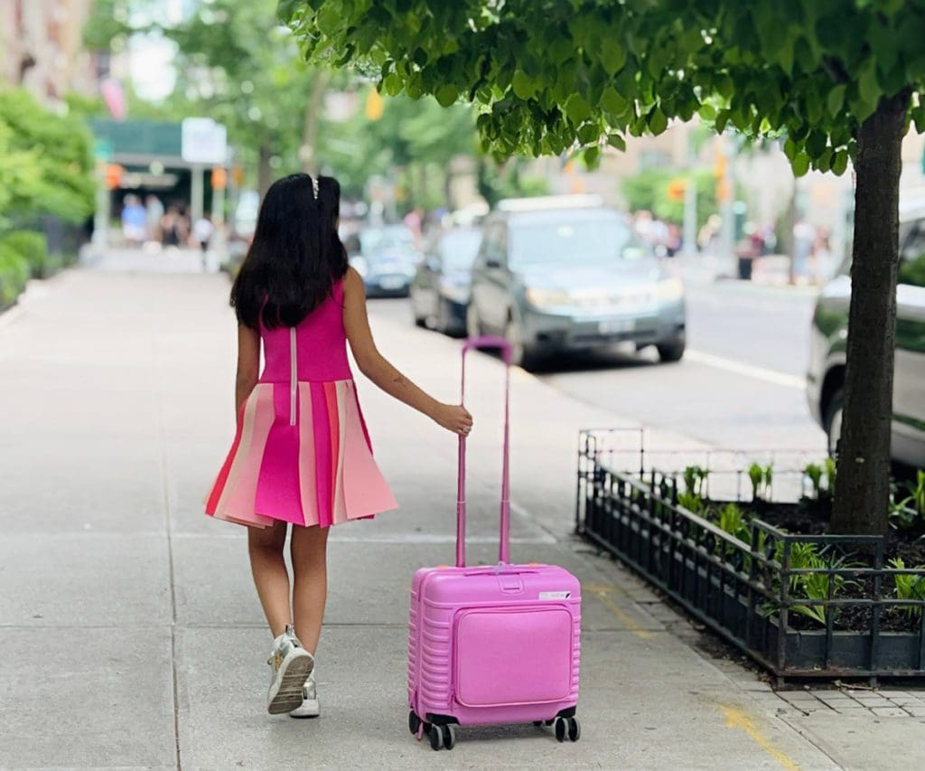
[{"label": "grey-green SUV with roof rack, parked facing the camera", "polygon": [[512,199],[485,221],[466,328],[504,335],[522,366],[617,342],[678,361],[684,286],[597,196]]}]

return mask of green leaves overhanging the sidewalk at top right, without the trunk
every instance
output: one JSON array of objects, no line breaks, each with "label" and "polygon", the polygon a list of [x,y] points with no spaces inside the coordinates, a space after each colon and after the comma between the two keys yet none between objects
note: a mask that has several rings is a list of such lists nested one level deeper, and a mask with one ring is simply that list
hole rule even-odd
[{"label": "green leaves overhanging the sidewalk at top right, without the trunk", "polygon": [[[701,117],[785,132],[796,174],[845,171],[880,98],[925,82],[922,0],[282,0],[309,60],[481,106],[500,155],[559,154]],[[911,103],[910,103],[911,106]],[[925,107],[911,110],[925,130]]]}]

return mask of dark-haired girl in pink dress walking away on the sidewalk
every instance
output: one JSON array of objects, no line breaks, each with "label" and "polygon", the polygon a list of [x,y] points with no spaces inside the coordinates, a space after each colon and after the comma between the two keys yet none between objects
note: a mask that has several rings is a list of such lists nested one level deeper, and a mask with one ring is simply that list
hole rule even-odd
[{"label": "dark-haired girl in pink dress walking away on the sidewalk", "polygon": [[[238,429],[206,513],[248,526],[253,582],[274,637],[267,662],[267,709],[274,715],[319,714],[313,672],[327,596],[328,529],[396,507],[373,460],[346,343],[383,391],[445,429],[472,429],[462,406],[439,403],[376,350],[363,280],[348,267],[338,237],[339,204],[340,187],[330,177],[277,180],[231,289]],[[261,344],[265,367],[258,379]]]}]

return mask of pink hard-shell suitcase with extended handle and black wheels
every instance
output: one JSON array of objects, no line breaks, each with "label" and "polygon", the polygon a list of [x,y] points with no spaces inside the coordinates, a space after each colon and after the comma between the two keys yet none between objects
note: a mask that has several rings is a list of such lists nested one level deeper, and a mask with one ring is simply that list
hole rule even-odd
[{"label": "pink hard-shell suitcase with extended handle and black wheels", "polygon": [[[462,348],[500,348],[480,337]],[[456,566],[414,573],[408,635],[408,727],[430,746],[452,749],[456,726],[534,723],[577,741],[575,715],[581,633],[581,587],[561,567],[509,563],[508,482],[510,367],[505,383],[499,563],[465,566],[465,438],[460,438]]]}]

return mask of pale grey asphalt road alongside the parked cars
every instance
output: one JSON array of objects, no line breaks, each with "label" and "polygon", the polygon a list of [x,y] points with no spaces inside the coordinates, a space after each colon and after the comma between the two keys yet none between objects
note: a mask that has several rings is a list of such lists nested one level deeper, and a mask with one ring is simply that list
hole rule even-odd
[{"label": "pale grey asphalt road alongside the parked cars", "polygon": [[[813,296],[735,281],[688,287],[688,352],[661,365],[654,351],[569,358],[536,375],[588,404],[722,449],[825,448],[804,389]],[[371,302],[405,318],[406,301]],[[448,345],[455,344],[448,340]]]}]

